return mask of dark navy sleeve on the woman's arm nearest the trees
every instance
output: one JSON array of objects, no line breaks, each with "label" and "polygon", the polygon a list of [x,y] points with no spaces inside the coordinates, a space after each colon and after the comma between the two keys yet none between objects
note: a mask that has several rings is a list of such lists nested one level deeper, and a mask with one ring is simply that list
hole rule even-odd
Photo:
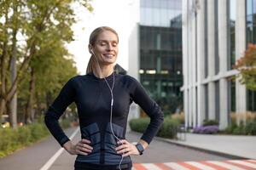
[{"label": "dark navy sleeve on the woman's arm nearest the trees", "polygon": [[67,135],[63,132],[59,124],[59,118],[66,111],[67,106],[70,105],[75,96],[75,88],[73,88],[73,78],[69,79],[64,87],[61,89],[52,105],[49,106],[48,111],[45,112],[44,122],[48,127],[49,132],[55,137],[61,147],[68,140]]}]

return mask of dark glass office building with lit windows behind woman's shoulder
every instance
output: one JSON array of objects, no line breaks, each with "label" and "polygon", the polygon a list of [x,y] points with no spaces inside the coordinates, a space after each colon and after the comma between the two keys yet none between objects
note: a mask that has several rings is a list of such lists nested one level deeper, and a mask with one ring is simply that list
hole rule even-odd
[{"label": "dark glass office building with lit windows behind woman's shoulder", "polygon": [[182,105],[183,99],[179,89],[183,85],[181,3],[141,0],[140,7],[141,82],[168,113]]}]

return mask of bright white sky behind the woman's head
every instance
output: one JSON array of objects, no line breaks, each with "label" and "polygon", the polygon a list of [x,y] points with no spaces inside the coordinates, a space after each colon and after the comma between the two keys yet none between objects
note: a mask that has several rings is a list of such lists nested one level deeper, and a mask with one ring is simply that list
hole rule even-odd
[{"label": "bright white sky behind the woman's head", "polygon": [[73,25],[74,41],[67,44],[73,54],[79,74],[84,75],[90,59],[88,43],[90,32],[98,26],[110,26],[119,34],[119,55],[117,63],[128,69],[128,38],[131,29],[139,21],[139,1],[137,0],[93,0],[94,11],[74,4],[78,23]]}]

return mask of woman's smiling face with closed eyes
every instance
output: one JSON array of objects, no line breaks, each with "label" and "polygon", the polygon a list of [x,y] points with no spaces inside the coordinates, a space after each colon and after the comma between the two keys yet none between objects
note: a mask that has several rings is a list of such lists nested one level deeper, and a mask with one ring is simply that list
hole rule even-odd
[{"label": "woman's smiling face with closed eyes", "polygon": [[100,65],[113,65],[119,53],[118,37],[112,31],[102,31],[90,49],[96,54]]}]

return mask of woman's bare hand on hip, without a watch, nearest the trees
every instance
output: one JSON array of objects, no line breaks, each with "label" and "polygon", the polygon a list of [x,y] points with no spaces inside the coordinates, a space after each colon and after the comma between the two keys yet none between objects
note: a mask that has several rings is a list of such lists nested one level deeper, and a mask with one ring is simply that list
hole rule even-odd
[{"label": "woman's bare hand on hip, without a watch, nearest the trees", "polygon": [[63,147],[71,155],[80,154],[87,156],[93,150],[93,148],[89,144],[90,140],[81,139],[77,144],[72,144],[71,141],[67,141],[65,144],[63,144]]}]

